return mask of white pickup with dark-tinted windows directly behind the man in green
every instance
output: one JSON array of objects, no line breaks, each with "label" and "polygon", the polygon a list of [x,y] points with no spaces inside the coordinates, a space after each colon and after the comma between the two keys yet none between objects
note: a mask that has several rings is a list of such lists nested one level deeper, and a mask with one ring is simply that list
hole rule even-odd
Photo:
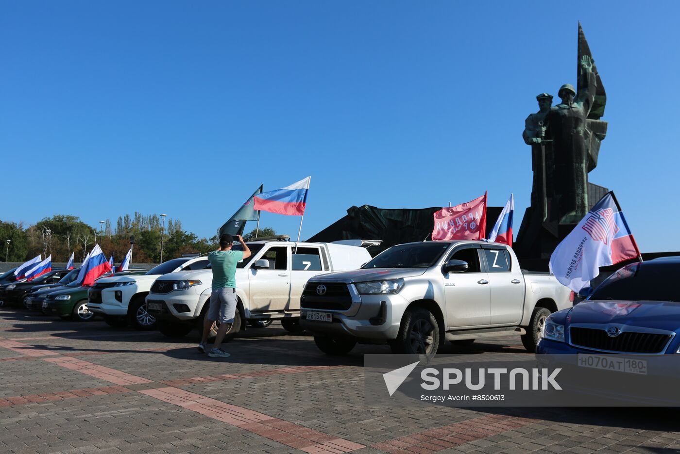
[{"label": "white pickup with dark-tinted windows directly behind the man in green", "polygon": [[[273,319],[280,319],[286,330],[299,332],[300,295],[307,280],[332,271],[357,269],[369,262],[371,254],[360,244],[248,242],[252,255],[237,265],[237,316],[226,339],[245,329],[247,322]],[[240,244],[233,247],[241,250]],[[146,297],[149,313],[158,319],[158,330],[168,337],[181,337],[194,327],[202,329],[211,284],[211,269],[160,276]],[[215,333],[216,325],[210,337]]]}]

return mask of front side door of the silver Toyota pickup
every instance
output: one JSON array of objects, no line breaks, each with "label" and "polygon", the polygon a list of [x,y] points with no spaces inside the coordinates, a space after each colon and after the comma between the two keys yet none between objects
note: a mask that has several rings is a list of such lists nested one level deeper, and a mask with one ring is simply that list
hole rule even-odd
[{"label": "front side door of the silver Toyota pickup", "polygon": [[447,327],[486,326],[491,321],[488,274],[481,267],[481,249],[476,244],[455,248],[447,257],[468,264],[463,273],[446,273],[443,277],[446,295]]}]

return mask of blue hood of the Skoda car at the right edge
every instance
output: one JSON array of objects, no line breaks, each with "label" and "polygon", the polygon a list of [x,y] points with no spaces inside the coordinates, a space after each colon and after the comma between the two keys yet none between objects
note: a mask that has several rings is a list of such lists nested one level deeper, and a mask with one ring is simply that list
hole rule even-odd
[{"label": "blue hood of the Skoda car at the right edge", "polygon": [[567,320],[575,323],[624,324],[662,330],[680,329],[680,303],[670,301],[582,301]]}]

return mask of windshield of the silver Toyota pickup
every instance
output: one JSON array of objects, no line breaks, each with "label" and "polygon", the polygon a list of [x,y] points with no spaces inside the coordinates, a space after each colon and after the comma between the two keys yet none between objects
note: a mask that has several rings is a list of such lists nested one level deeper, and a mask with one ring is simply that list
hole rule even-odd
[{"label": "windshield of the silver Toyota pickup", "polygon": [[429,268],[449,246],[449,243],[435,241],[392,246],[362,268]]}]

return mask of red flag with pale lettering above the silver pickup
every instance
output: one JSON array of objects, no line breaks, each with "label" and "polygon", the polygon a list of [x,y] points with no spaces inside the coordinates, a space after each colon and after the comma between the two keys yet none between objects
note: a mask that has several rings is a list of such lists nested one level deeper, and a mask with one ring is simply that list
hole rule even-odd
[{"label": "red flag with pale lettering above the silver pickup", "polygon": [[486,235],[486,192],[471,202],[435,212],[432,240],[483,240]]}]

